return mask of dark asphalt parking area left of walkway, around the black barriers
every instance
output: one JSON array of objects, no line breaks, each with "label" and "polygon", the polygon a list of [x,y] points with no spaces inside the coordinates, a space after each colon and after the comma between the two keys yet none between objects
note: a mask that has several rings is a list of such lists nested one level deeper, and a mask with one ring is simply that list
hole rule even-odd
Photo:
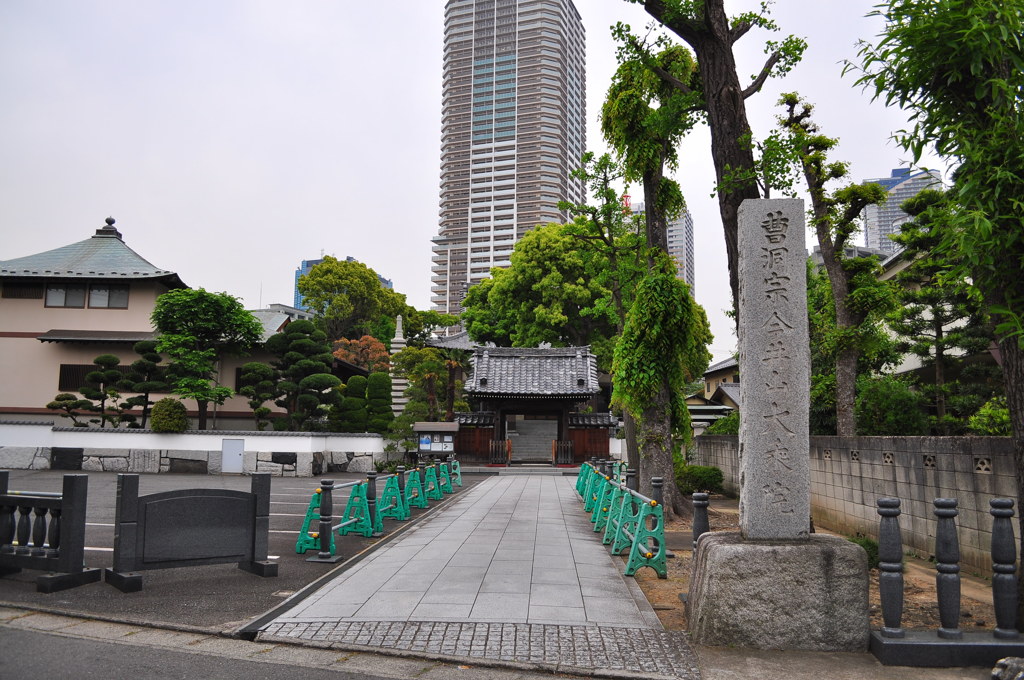
[{"label": "dark asphalt parking area left of walkway, around the black barriers", "polygon": [[[59,492],[61,471],[12,470],[10,488],[18,491]],[[86,513],[87,566],[109,567],[113,563],[114,519],[117,474],[89,472],[89,496]],[[327,475],[325,475],[327,476]],[[355,474],[335,474],[337,482],[360,478]],[[467,488],[482,479],[464,475]],[[142,572],[142,590],[122,593],[104,583],[94,583],[52,594],[36,592],[35,578],[40,573],[23,570],[0,578],[0,603],[27,606],[37,610],[74,615],[89,615],[109,621],[144,623],[184,630],[233,631],[260,614],[281,605],[306,585],[329,573],[337,565],[307,562],[313,553],[296,554],[295,542],[306,508],[318,478],[274,477],[270,486],[269,553],[280,564],[276,578],[262,579],[237,568],[233,564],[160,569]],[[250,477],[187,474],[141,475],[139,494],[155,494],[177,488],[233,488],[249,491]],[[459,487],[456,486],[456,495]],[[335,499],[335,514],[344,509],[347,495]],[[447,501],[452,497],[446,497]],[[416,521],[424,513],[439,507],[431,502],[427,510],[413,509]],[[410,522],[387,519],[383,539],[346,536],[336,539],[338,552],[346,559],[356,556],[379,540]],[[202,540],[202,535],[197,537]]]}]

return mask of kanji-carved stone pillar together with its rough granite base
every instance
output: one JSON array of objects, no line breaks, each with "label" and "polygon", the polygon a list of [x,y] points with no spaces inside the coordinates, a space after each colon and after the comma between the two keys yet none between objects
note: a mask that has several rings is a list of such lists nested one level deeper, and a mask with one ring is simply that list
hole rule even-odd
[{"label": "kanji-carved stone pillar together with its rough granite base", "polygon": [[[739,208],[739,532],[693,550],[687,630],[697,644],[863,651],[867,556],[810,534],[810,347],[804,202]],[[714,529],[714,526],[712,527]]]}]

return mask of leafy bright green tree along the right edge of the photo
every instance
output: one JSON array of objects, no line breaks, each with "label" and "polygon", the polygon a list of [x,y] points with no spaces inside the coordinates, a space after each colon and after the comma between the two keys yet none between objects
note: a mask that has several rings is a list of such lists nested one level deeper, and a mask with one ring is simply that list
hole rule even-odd
[{"label": "leafy bright green tree along the right edge of the photo", "polygon": [[[886,28],[860,50],[858,82],[910,115],[897,141],[957,163],[959,205],[939,252],[981,294],[996,324],[1024,500],[1024,3],[889,0]],[[1024,515],[1018,515],[1024,527]],[[1024,617],[1024,589],[1018,611]]]}]

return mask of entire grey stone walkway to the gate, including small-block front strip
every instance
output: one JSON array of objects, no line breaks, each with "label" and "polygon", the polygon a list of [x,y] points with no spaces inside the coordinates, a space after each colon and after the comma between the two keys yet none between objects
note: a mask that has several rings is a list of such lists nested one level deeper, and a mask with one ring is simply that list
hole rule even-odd
[{"label": "entire grey stone walkway to the gate, including small-block front strip", "polygon": [[270,622],[260,639],[697,678],[601,544],[574,477],[496,476]]}]

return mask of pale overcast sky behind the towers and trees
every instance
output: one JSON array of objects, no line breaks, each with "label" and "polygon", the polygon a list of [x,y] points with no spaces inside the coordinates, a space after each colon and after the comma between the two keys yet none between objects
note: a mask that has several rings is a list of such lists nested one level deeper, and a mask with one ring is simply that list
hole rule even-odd
[{"label": "pale overcast sky behind the towers and trees", "polygon": [[[755,133],[778,93],[817,104],[853,178],[905,159],[902,114],[842,78],[874,0],[784,0],[804,61],[748,100]],[[575,0],[587,31],[587,146],[615,68],[625,0]],[[728,2],[730,10],[754,2]],[[295,268],[350,255],[430,304],[437,231],[443,0],[4,0],[0,3],[0,260],[88,238],[113,216],[125,242],[191,287],[250,308],[291,304]],[[764,32],[738,44],[743,81]],[[725,247],[706,130],[677,174],[693,213],[696,299],[716,359],[733,351]],[[639,187],[632,190],[640,200]]]}]

